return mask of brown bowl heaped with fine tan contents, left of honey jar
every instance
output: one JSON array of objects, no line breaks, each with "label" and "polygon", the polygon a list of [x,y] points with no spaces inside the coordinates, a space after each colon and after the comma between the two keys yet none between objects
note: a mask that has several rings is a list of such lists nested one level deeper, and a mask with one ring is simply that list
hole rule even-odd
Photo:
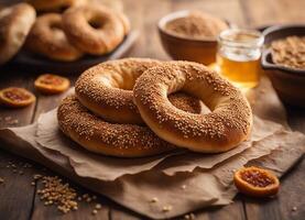
[{"label": "brown bowl heaped with fine tan contents, left of honey jar", "polygon": [[209,65],[216,62],[217,36],[229,23],[201,11],[176,11],[157,24],[163,48],[174,59]]}]

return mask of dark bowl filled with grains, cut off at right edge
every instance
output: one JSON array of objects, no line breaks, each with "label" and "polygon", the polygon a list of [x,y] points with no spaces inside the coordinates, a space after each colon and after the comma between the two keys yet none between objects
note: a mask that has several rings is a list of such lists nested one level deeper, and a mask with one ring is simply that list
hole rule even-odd
[{"label": "dark bowl filled with grains, cut off at right edge", "polygon": [[276,25],[263,32],[261,66],[280,98],[305,107],[305,25]]}]

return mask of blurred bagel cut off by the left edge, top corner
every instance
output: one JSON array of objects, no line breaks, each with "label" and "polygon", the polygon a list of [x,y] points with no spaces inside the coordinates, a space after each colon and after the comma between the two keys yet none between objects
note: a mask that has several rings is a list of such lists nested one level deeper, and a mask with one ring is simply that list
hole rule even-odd
[{"label": "blurred bagel cut off by the left edge, top corner", "polygon": [[35,18],[35,10],[28,3],[19,3],[0,11],[0,65],[20,51]]}]

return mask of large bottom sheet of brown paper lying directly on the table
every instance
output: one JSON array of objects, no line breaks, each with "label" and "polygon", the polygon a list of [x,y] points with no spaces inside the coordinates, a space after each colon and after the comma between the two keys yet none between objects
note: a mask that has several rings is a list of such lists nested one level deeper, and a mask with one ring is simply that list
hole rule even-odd
[{"label": "large bottom sheet of brown paper lying directly on the table", "polygon": [[[211,169],[196,169],[167,176],[154,168],[137,175],[124,175],[113,182],[102,182],[77,175],[67,156],[40,146],[34,141],[35,127],[36,124],[1,130],[1,140],[7,143],[2,147],[31,157],[78,184],[153,219],[176,217],[203,207],[230,204],[237,194],[232,185],[232,173],[236,169],[252,163],[271,168],[281,176],[305,151],[304,134],[279,131]],[[14,147],[11,147],[12,145]],[[154,197],[159,201],[150,202]],[[164,212],[163,207],[172,207],[172,210]]]}]

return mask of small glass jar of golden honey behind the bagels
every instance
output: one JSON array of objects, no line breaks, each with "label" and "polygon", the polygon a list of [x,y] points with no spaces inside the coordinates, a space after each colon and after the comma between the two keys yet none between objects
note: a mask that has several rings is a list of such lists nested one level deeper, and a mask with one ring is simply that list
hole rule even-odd
[{"label": "small glass jar of golden honey behind the bagels", "polygon": [[218,37],[217,69],[239,88],[253,88],[260,81],[263,35],[253,30],[231,29]]}]

